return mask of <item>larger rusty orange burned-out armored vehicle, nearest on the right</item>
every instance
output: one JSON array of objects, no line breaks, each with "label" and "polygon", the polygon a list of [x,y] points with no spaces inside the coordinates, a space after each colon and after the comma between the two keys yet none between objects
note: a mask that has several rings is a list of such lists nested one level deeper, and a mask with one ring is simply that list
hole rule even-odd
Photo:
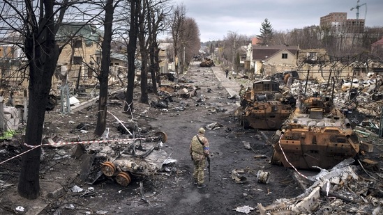
[{"label": "larger rusty orange burned-out armored vehicle, nearest on the right", "polygon": [[359,140],[350,121],[330,97],[301,99],[272,139],[271,163],[288,168],[332,168],[359,154]]}]

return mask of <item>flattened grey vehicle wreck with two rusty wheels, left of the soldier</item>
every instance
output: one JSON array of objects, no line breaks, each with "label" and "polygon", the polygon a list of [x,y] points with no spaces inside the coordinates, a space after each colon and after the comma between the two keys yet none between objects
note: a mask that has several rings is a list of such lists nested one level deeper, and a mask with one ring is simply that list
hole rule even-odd
[{"label": "flattened grey vehicle wreck with two rusty wheels, left of the soldier", "polygon": [[95,168],[82,168],[89,170],[89,174],[87,171],[81,174],[82,180],[93,184],[104,175],[121,186],[128,186],[133,176],[153,176],[168,157],[161,150],[165,141],[167,135],[164,132],[157,132],[153,137],[96,141],[87,148],[89,159],[84,159],[83,163],[83,166],[93,164]]}]

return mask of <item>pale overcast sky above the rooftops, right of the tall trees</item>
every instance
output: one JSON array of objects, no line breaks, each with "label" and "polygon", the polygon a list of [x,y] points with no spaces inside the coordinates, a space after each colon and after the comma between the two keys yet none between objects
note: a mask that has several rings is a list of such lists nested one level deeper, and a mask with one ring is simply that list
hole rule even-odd
[{"label": "pale overcast sky above the rooftops, right of the tall trees", "polygon": [[[357,5],[357,0],[173,1],[175,5],[183,2],[186,6],[186,16],[197,22],[202,42],[222,40],[228,31],[249,36],[260,34],[265,18],[276,31],[319,25],[320,17],[333,12],[345,12],[347,19],[356,19],[356,9],[350,9]],[[366,26],[383,26],[383,0],[361,0],[359,6],[359,19],[366,17]]]}]

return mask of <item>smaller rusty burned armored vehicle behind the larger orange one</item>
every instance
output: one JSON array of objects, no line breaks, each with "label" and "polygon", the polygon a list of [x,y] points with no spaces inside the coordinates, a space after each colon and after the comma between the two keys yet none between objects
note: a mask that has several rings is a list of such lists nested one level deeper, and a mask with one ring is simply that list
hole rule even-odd
[{"label": "smaller rusty burned armored vehicle behind the larger orange one", "polygon": [[294,111],[296,99],[283,95],[277,81],[255,81],[241,95],[241,106],[237,110],[240,125],[253,129],[280,129]]}]

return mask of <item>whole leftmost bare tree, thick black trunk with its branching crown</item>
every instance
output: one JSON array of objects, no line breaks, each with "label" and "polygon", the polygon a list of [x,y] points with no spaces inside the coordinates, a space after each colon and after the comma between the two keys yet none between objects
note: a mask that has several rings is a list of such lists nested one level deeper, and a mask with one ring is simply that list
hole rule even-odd
[{"label": "whole leftmost bare tree, thick black trunk with its branching crown", "polygon": [[[22,171],[18,185],[20,196],[28,199],[38,198],[40,192],[39,169],[40,148],[45,107],[52,86],[52,76],[56,70],[59,54],[65,45],[57,45],[55,38],[62,25],[66,10],[76,2],[57,1],[8,1],[1,3],[0,20],[5,23],[4,31],[18,32],[24,42],[24,54],[27,56],[29,69],[29,111],[25,140],[29,150],[22,155]],[[75,7],[73,7],[75,10]],[[13,15],[13,16],[12,16]],[[10,18],[12,17],[12,18]],[[33,149],[33,150],[31,150]]]}]

